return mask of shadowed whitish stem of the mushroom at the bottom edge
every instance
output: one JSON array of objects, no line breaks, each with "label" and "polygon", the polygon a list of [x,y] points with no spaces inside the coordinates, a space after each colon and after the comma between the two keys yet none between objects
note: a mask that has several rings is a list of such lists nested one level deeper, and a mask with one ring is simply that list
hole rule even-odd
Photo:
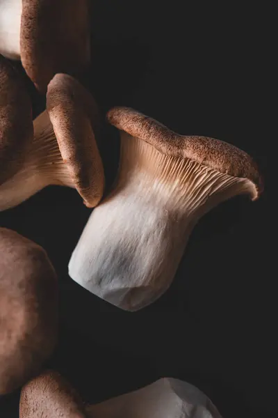
[{"label": "shadowed whitish stem of the mushroom at the bottom edge", "polygon": [[203,392],[173,378],[156,380],[87,410],[90,418],[221,418]]}]

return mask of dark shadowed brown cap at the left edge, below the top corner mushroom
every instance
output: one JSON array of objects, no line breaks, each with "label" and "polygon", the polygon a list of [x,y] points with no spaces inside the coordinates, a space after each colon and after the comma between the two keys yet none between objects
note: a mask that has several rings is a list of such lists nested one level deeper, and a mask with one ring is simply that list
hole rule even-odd
[{"label": "dark shadowed brown cap at the left edge, below the top corner mushroom", "polygon": [[0,185],[22,167],[32,139],[31,100],[17,71],[0,54]]}]

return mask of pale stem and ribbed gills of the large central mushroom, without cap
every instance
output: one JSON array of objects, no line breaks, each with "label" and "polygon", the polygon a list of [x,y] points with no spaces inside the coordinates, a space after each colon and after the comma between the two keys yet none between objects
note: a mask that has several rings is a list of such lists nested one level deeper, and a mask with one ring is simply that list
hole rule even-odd
[{"label": "pale stem and ribbed gills of the large central mushroom, without cap", "polygon": [[170,286],[199,217],[220,201],[254,192],[254,185],[159,153],[126,132],[121,143],[117,186],[92,212],[69,274],[95,295],[132,311]]}]

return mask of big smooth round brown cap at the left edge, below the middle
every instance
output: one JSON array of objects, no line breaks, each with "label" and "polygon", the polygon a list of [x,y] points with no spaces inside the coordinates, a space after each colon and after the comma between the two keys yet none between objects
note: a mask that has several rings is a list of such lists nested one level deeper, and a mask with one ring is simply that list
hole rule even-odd
[{"label": "big smooth round brown cap at the left edge, below the middle", "polygon": [[0,395],[24,384],[51,355],[58,283],[39,245],[0,228]]}]

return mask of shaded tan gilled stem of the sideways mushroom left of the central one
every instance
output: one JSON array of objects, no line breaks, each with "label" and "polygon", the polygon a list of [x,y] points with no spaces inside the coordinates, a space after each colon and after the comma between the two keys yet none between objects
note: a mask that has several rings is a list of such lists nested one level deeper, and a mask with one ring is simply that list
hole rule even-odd
[{"label": "shaded tan gilled stem of the sideways mushroom left of the central one", "polygon": [[47,111],[33,125],[34,138],[22,169],[0,185],[0,211],[17,206],[47,185],[74,187]]}]

